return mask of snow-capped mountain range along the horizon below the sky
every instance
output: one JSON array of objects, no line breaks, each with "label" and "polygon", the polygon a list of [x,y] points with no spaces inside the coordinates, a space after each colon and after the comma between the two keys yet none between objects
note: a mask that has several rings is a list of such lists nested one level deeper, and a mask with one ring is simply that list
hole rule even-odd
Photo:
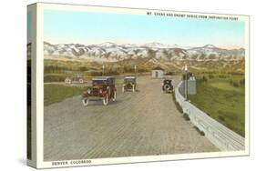
[{"label": "snow-capped mountain range along the horizon below the sky", "polygon": [[145,45],[117,45],[106,42],[99,45],[58,44],[44,42],[44,54],[59,57],[89,59],[93,61],[118,62],[125,59],[152,58],[156,60],[242,60],[245,50],[223,49],[215,45],[201,47],[184,47],[180,45],[163,45],[157,42]]}]

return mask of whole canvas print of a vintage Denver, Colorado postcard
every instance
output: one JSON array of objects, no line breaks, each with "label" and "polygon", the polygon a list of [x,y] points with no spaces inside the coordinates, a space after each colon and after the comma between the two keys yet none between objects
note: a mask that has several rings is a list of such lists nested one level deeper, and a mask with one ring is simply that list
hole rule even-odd
[{"label": "whole canvas print of a vintage Denver, Colorado postcard", "polygon": [[37,3],[27,12],[37,168],[249,155],[249,16]]}]

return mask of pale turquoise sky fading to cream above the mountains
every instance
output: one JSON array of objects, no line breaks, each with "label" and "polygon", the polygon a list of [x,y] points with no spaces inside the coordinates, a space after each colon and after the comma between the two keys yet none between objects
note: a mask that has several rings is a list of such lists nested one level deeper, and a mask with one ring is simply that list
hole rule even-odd
[{"label": "pale turquoise sky fading to cream above the mountains", "polygon": [[44,38],[51,44],[165,45],[244,47],[241,21],[156,15],[117,15],[46,10]]}]

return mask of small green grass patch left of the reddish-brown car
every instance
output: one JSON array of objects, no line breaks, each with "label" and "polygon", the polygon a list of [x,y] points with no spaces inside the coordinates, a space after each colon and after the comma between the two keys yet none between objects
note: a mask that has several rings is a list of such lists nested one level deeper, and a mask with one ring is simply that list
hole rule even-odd
[{"label": "small green grass patch left of the reddish-brown car", "polygon": [[65,85],[45,85],[45,106],[61,102],[64,99],[72,96],[81,95],[86,87],[73,87]]}]

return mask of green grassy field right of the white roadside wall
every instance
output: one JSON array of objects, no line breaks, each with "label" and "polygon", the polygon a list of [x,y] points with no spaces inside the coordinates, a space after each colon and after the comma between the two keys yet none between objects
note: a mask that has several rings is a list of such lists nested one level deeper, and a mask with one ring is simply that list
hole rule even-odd
[{"label": "green grassy field right of the white roadside wall", "polygon": [[[197,76],[197,91],[189,100],[195,106],[244,136],[245,88],[244,75]],[[235,83],[235,84],[234,84]]]}]

